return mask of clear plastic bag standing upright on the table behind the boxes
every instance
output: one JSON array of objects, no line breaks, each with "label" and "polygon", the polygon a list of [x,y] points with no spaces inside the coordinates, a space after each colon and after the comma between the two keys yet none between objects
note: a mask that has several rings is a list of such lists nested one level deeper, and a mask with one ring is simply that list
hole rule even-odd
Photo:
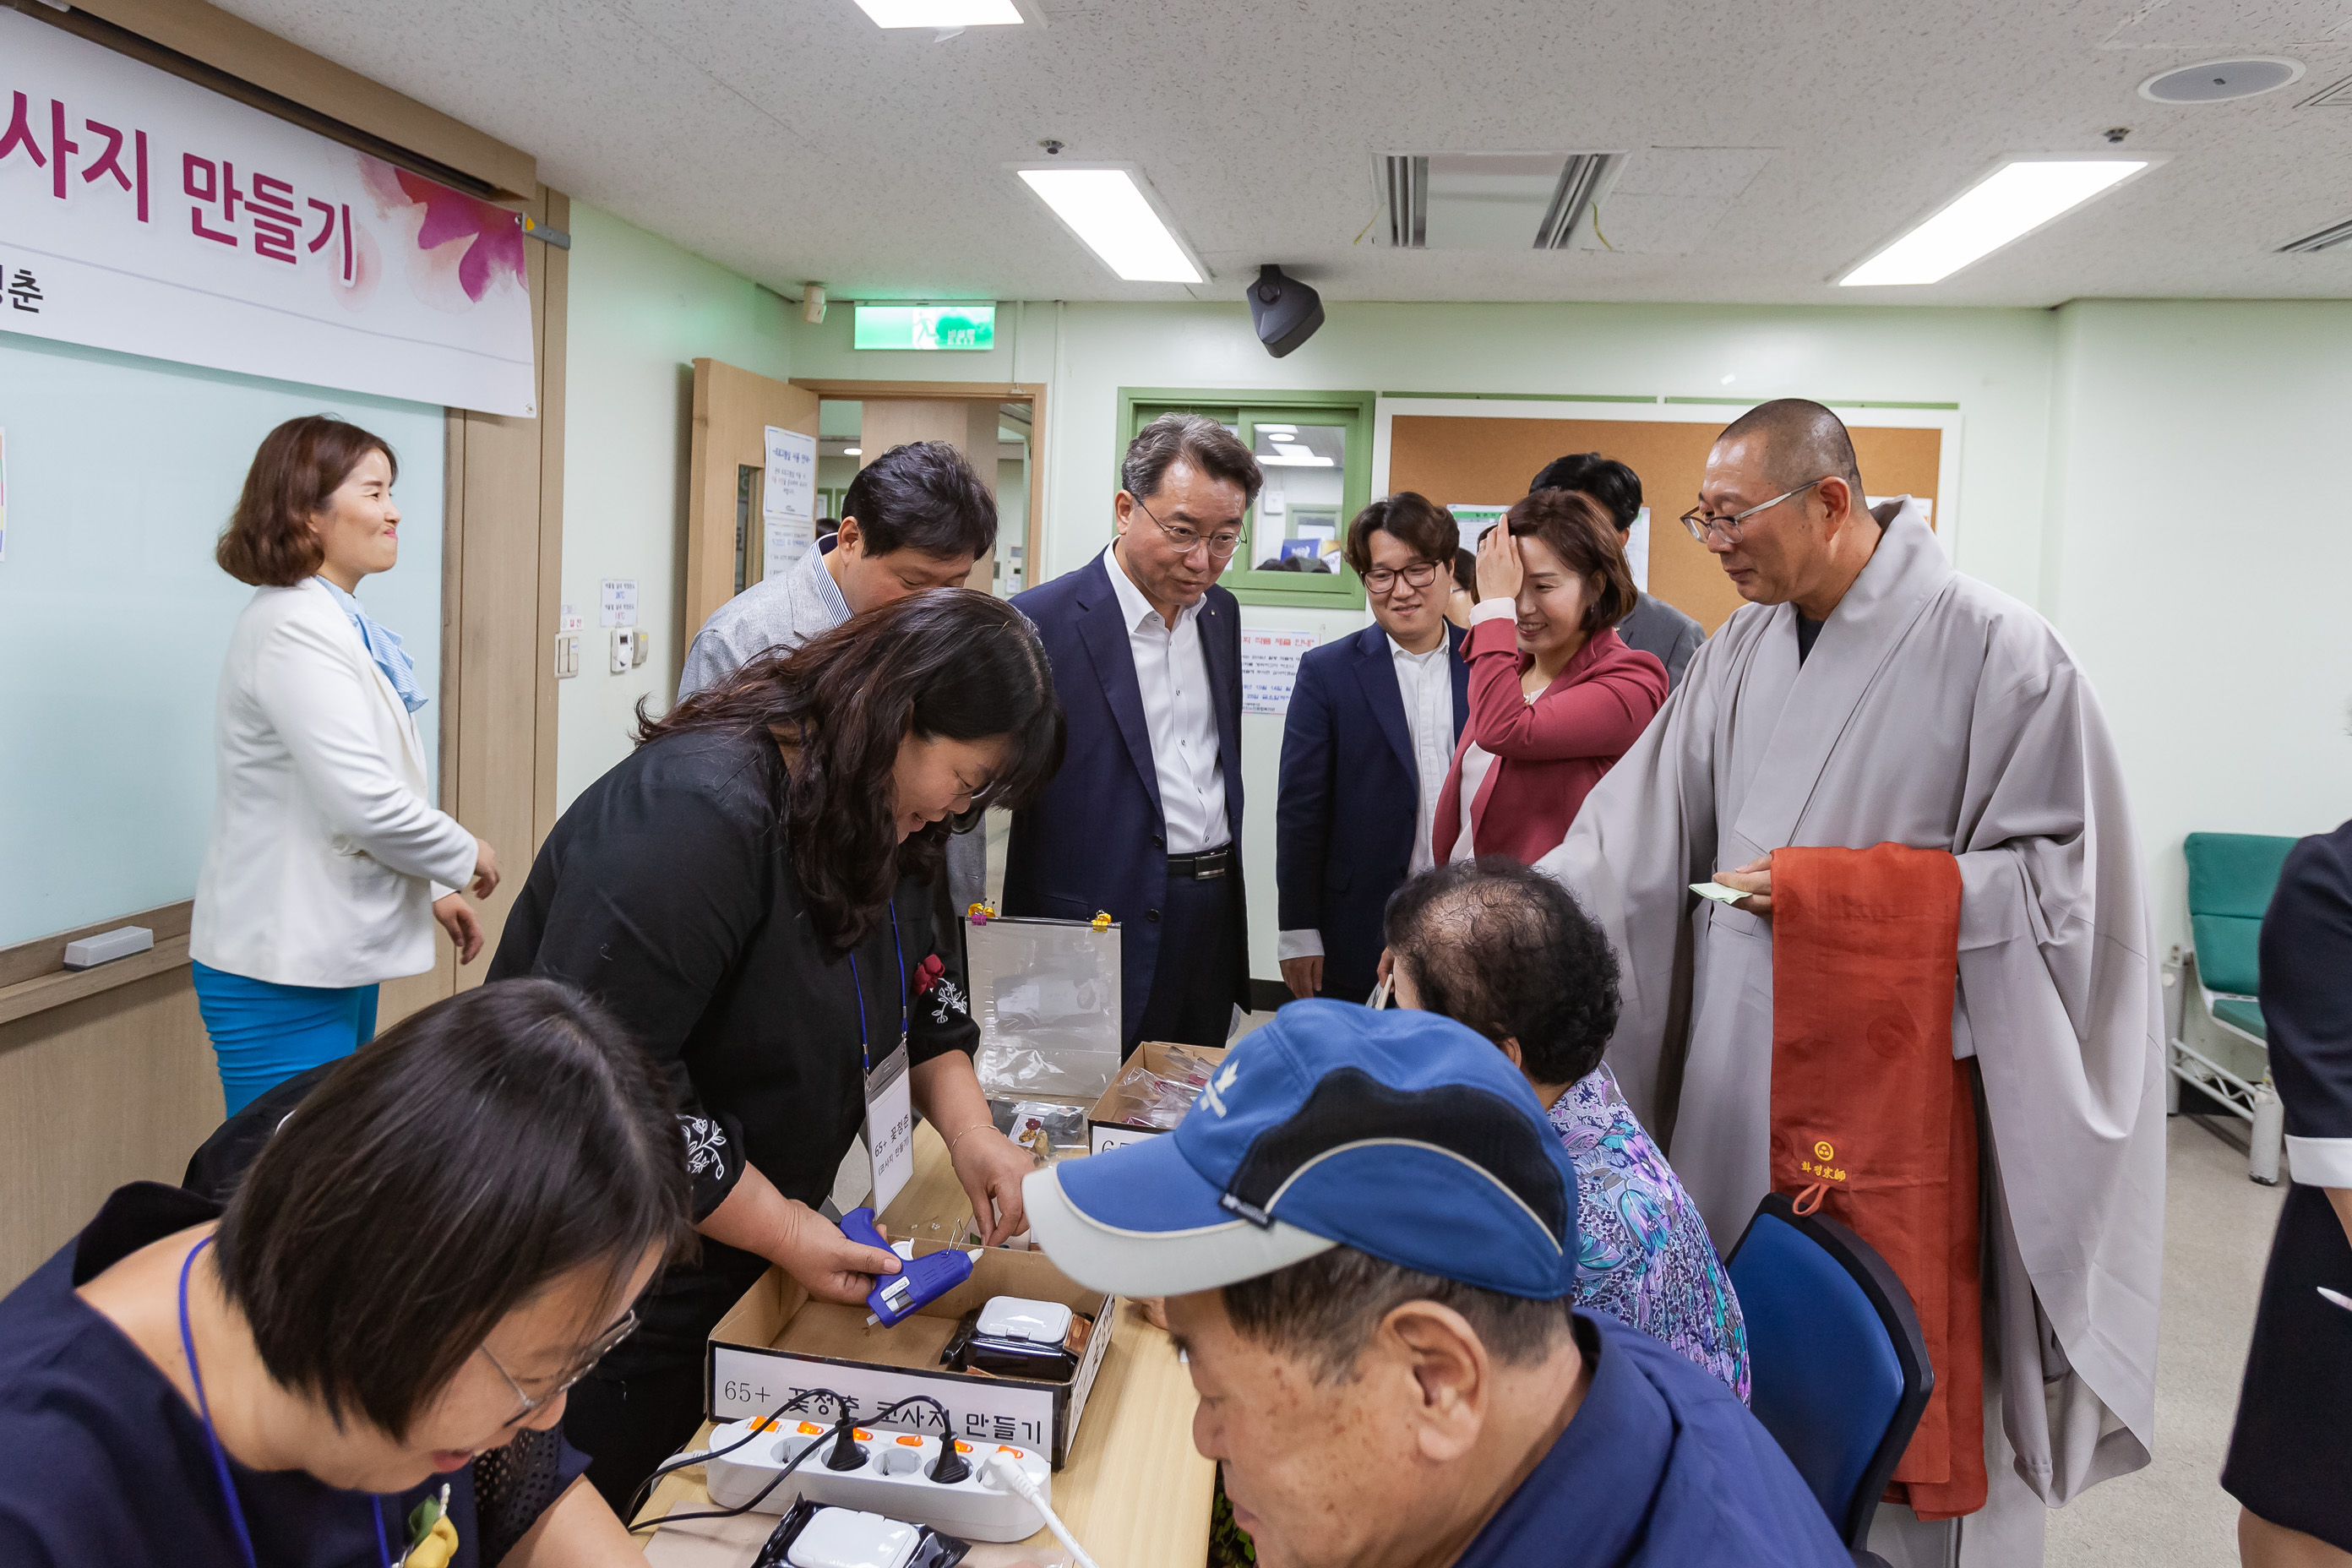
[{"label": "clear plastic bag standing upright on the table behind the boxes", "polygon": [[1120,1070],[1120,929],[990,919],[964,929],[990,1100],[1091,1105]]}]

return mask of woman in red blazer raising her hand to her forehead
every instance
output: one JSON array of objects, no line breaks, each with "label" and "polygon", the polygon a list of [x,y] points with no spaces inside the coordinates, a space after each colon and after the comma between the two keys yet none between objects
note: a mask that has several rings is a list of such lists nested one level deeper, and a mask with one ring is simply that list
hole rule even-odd
[{"label": "woman in red blazer raising her hand to her forehead", "polygon": [[1635,607],[1611,520],[1581,491],[1538,489],[1477,548],[1470,715],[1437,797],[1437,863],[1534,865],[1665,703],[1665,665],[1616,635]]}]

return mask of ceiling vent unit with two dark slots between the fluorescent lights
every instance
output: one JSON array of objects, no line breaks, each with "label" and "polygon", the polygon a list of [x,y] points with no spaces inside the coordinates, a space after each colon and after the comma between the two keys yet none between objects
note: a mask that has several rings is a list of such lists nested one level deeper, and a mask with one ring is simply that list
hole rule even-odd
[{"label": "ceiling vent unit with two dark slots between the fluorescent lights", "polygon": [[1569,249],[1623,165],[1623,153],[1385,153],[1388,244]]}]

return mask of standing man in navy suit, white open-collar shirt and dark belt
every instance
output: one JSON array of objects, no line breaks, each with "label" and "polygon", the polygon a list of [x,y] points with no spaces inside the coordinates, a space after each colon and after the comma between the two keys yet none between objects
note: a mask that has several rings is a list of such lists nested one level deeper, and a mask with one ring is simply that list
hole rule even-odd
[{"label": "standing man in navy suit, white open-collar shirt and dark belt", "polygon": [[1004,912],[1120,922],[1122,1051],[1223,1046],[1249,1006],[1242,900],[1242,611],[1216,585],[1258,463],[1164,414],[1127,447],[1120,536],[1014,604],[1068,715],[1051,788],[1014,813]]}]

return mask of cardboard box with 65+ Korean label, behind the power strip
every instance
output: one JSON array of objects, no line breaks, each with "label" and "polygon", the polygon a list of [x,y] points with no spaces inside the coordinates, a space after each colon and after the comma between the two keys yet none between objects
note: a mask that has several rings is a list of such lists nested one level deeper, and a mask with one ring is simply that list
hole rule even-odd
[{"label": "cardboard box with 65+ Korean label, behind the power strip", "polygon": [[[915,1244],[917,1258],[936,1251],[936,1241]],[[1047,1382],[941,1366],[938,1352],[955,1324],[990,1295],[1054,1300],[1091,1316],[1094,1335],[1077,1373]],[[863,1302],[811,1300],[800,1281],[771,1267],[710,1331],[703,1413],[724,1422],[771,1415],[783,1406],[790,1415],[830,1422],[844,1413],[833,1396],[847,1403],[849,1415],[861,1415],[908,1394],[929,1394],[955,1413],[955,1436],[1016,1443],[1051,1455],[1054,1469],[1061,1469],[1117,1316],[1117,1298],[1075,1284],[1044,1253],[983,1251],[971,1279],[896,1328],[868,1328]],[[929,1406],[868,1425],[938,1436],[938,1413]]]}]

